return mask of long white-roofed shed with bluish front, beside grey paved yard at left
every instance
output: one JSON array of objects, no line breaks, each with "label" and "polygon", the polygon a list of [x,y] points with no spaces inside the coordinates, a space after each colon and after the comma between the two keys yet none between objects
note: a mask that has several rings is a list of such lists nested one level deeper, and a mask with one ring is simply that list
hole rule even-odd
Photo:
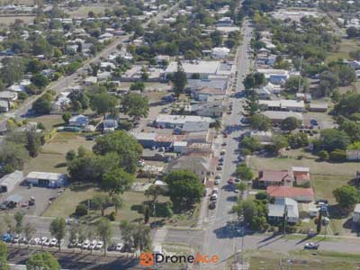
[{"label": "long white-roofed shed with bluish front, beside grey paved yard at left", "polygon": [[26,176],[28,183],[46,187],[59,187],[66,183],[67,175],[46,173],[46,172],[31,172]]}]

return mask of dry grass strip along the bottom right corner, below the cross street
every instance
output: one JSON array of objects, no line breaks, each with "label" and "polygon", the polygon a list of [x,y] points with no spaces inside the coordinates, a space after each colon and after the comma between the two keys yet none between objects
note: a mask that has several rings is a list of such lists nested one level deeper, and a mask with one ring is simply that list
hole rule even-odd
[{"label": "dry grass strip along the bottom right corner, below the cross street", "polygon": [[333,252],[296,251],[291,254],[280,254],[270,251],[253,250],[247,252],[246,261],[250,264],[250,270],[344,270],[358,269],[360,257],[353,254]]}]

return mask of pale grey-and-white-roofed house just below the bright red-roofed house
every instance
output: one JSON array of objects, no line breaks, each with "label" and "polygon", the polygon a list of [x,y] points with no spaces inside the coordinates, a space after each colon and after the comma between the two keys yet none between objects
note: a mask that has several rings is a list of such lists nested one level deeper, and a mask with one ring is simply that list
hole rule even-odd
[{"label": "pale grey-and-white-roofed house just below the bright red-roofed house", "polygon": [[268,220],[275,224],[282,222],[284,219],[285,208],[287,211],[287,222],[296,224],[299,221],[298,202],[291,198],[277,198],[274,203],[268,203]]}]

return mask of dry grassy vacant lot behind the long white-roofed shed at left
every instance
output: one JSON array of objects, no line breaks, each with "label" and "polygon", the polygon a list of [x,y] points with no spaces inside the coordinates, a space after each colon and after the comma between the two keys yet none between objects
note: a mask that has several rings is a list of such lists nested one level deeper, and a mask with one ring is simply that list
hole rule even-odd
[{"label": "dry grassy vacant lot behind the long white-roofed shed at left", "polygon": [[68,150],[79,146],[91,149],[94,141],[85,140],[75,132],[58,132],[40,150],[38,157],[31,158],[25,165],[24,172],[43,171],[65,173],[67,171],[65,155]]}]

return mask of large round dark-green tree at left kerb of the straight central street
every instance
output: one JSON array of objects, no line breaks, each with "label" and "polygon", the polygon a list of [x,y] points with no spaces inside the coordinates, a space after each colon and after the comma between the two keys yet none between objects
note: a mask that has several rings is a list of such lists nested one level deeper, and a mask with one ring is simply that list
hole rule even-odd
[{"label": "large round dark-green tree at left kerb of the straight central street", "polygon": [[199,177],[187,170],[176,170],[164,178],[168,184],[169,196],[172,202],[190,206],[193,202],[200,202],[204,186]]}]

